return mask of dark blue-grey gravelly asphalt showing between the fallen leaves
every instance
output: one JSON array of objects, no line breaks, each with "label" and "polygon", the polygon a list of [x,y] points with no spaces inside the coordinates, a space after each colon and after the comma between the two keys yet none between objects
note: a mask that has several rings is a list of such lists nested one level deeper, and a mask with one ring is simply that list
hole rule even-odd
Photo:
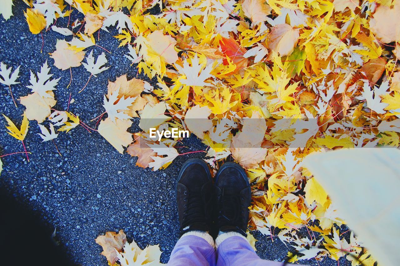
[{"label": "dark blue-grey gravelly asphalt showing between the fallen leaves", "polygon": [[[44,47],[41,34],[29,32],[24,18],[27,6],[22,1],[14,1],[14,16],[5,21],[2,16],[0,23],[0,61],[15,68],[21,65],[20,84],[12,86],[16,99],[26,96],[30,90],[30,70],[37,72],[48,60],[50,66],[54,63],[48,53],[55,50],[56,39],[66,39],[52,30],[43,32]],[[75,10],[71,22],[79,17]],[[81,18],[81,17],[80,17]],[[67,18],[58,19],[56,25],[65,27]],[[76,32],[78,28],[74,30]],[[55,91],[57,110],[66,110],[70,93],[75,100],[70,105],[70,111],[78,114],[82,121],[92,128],[96,121],[92,118],[103,112],[102,99],[106,93],[108,80],[127,74],[128,78],[148,78],[137,73],[130,61],[124,57],[126,47],[118,48],[118,41],[112,36],[117,32],[97,32],[94,34],[96,44],[109,50],[106,52],[108,70],[92,77],[85,90],[78,94],[89,77],[89,72],[83,66],[72,69],[72,85],[66,88],[70,81],[70,72],[61,71],[52,66],[51,73],[60,82]],[[94,50],[94,56],[105,52],[99,47]],[[154,84],[154,82],[152,82]],[[18,103],[18,109],[12,103],[8,88],[2,88],[0,95],[0,112],[6,114],[19,126],[24,106]],[[0,154],[23,151],[20,141],[6,133],[5,120],[0,118]],[[136,120],[136,124],[137,124]],[[138,131],[137,126],[131,132]],[[119,154],[100,134],[89,133],[82,126],[67,134],[60,133],[55,143],[60,156],[52,142],[42,142],[38,136],[39,128],[36,121],[30,121],[30,129],[25,143],[32,152],[30,162],[24,154],[15,154],[2,158],[4,170],[0,177],[0,186],[18,202],[28,206],[42,218],[44,224],[52,232],[56,228],[56,238],[62,249],[78,265],[107,265],[106,259],[100,255],[101,247],[94,239],[107,231],[123,229],[128,239],[134,239],[141,248],[146,245],[160,244],[162,262],[167,262],[170,253],[178,240],[178,214],[175,203],[175,182],[182,163],[191,157],[201,157],[202,152],[179,156],[166,170],[152,171],[135,166],[136,158],[128,154]],[[204,150],[204,145],[191,136],[183,141],[179,152]],[[6,228],[2,228],[5,230]],[[259,240],[256,244],[258,254],[262,258],[283,260],[288,248],[276,239],[262,236],[254,232]],[[304,264],[318,265],[315,260]],[[347,262],[348,265],[349,262]],[[319,265],[338,265],[337,262],[326,259]],[[340,260],[340,265],[346,265]]]}]

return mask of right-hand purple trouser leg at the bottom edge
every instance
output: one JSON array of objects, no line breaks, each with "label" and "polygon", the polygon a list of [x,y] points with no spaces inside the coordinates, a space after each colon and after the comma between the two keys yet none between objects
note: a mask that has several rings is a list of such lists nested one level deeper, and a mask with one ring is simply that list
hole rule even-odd
[{"label": "right-hand purple trouser leg at the bottom edge", "polygon": [[282,266],[282,262],[262,260],[240,236],[226,238],[217,249],[217,266]]}]

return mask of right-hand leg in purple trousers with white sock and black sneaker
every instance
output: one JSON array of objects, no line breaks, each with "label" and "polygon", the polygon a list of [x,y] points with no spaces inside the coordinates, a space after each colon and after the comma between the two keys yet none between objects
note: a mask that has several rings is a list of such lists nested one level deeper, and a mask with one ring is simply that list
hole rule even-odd
[{"label": "right-hand leg in purple trousers with white sock and black sneaker", "polygon": [[233,162],[225,163],[216,174],[214,186],[219,229],[215,240],[217,265],[281,265],[260,259],[246,239],[251,192],[244,169]]}]

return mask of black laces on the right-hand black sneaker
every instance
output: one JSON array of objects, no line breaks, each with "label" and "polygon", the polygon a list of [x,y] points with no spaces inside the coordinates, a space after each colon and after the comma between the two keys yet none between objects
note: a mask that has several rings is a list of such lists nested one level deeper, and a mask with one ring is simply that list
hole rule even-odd
[{"label": "black laces on the right-hand black sneaker", "polygon": [[238,224],[242,223],[242,216],[244,214],[241,208],[240,195],[228,193],[226,190],[222,189],[219,202],[219,226],[228,225],[237,227]]}]

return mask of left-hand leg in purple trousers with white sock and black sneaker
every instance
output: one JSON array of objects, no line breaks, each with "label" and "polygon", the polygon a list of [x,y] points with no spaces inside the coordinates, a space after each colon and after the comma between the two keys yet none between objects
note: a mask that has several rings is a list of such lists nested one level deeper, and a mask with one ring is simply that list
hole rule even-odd
[{"label": "left-hand leg in purple trousers with white sock and black sneaker", "polygon": [[176,202],[180,239],[172,250],[168,265],[215,265],[212,224],[212,179],[207,164],[187,160],[178,176]]}]

